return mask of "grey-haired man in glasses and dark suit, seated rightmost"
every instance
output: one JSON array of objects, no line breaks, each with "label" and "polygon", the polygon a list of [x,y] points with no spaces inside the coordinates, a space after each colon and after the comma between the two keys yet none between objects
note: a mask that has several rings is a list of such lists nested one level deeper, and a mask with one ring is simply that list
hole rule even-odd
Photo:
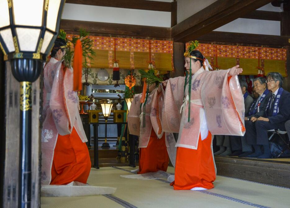
[{"label": "grey-haired man in glasses and dark suit, seated rightmost", "polygon": [[248,155],[251,158],[270,158],[267,131],[271,129],[286,131],[285,122],[290,119],[290,93],[282,88],[282,75],[278,72],[270,72],[266,82],[268,90],[272,93],[267,102],[265,116],[257,118],[255,125],[245,125],[247,141],[253,144],[255,149],[255,153]]}]

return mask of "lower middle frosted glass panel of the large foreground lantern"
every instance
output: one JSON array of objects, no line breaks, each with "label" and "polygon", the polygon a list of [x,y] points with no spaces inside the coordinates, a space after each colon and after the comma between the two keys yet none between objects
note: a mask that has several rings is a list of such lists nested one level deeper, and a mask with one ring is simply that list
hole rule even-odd
[{"label": "lower middle frosted glass panel of the large foreground lantern", "polygon": [[16,28],[19,50],[36,51],[40,29]]}]

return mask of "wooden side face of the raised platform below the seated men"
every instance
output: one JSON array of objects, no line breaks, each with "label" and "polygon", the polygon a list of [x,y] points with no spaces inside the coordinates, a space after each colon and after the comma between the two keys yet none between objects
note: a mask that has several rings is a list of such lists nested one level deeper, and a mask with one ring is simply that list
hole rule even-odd
[{"label": "wooden side face of the raised platform below the seated men", "polygon": [[215,156],[217,175],[290,188],[290,158]]}]

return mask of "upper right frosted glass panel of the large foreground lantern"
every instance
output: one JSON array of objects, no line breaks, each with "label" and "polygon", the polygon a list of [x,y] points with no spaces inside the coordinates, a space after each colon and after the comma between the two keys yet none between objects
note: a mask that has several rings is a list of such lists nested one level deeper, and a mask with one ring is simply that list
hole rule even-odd
[{"label": "upper right frosted glass panel of the large foreground lantern", "polygon": [[52,31],[55,31],[57,26],[57,15],[61,0],[49,0],[46,27]]}]

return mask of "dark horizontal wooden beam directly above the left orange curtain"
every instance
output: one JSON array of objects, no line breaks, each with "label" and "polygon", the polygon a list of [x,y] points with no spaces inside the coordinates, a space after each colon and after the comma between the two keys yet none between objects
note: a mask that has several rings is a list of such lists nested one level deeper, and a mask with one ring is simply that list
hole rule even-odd
[{"label": "dark horizontal wooden beam directly above the left orange curtain", "polygon": [[60,28],[78,34],[80,28],[96,36],[171,38],[171,28],[62,19]]}]

